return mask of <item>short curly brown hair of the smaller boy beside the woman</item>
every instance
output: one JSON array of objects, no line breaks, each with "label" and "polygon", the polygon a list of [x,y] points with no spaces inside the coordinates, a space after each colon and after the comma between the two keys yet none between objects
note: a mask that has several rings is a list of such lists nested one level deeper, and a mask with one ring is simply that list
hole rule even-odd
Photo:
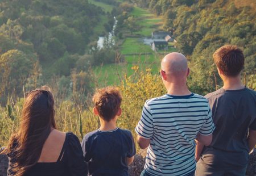
[{"label": "short curly brown hair of the smaller boy beside the woman", "polygon": [[93,102],[100,117],[110,121],[117,115],[122,97],[116,87],[104,87],[96,90],[93,95]]}]

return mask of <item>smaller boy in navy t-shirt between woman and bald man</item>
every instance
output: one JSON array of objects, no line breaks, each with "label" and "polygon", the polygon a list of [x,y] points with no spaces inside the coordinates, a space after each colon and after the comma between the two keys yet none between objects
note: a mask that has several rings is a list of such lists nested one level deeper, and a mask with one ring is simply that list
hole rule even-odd
[{"label": "smaller boy in navy t-shirt between woman and bald man", "polygon": [[81,143],[89,175],[128,176],[136,150],[131,132],[116,125],[122,97],[117,88],[105,87],[96,90],[93,102],[101,126],[86,134]]}]

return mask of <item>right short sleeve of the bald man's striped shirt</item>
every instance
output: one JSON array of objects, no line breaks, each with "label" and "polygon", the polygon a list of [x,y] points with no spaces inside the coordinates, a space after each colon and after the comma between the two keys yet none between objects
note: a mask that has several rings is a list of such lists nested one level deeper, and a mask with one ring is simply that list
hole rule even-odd
[{"label": "right short sleeve of the bald man's striped shirt", "polygon": [[211,135],[213,133],[215,129],[213,120],[212,120],[212,111],[210,110],[209,104],[208,104],[208,112],[207,112],[207,116],[206,119],[204,121],[203,126],[201,127],[199,133],[203,136],[208,136]]}]

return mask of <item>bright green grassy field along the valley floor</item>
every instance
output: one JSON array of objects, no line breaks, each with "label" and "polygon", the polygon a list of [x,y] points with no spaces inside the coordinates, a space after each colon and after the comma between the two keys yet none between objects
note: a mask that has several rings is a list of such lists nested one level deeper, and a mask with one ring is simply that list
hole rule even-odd
[{"label": "bright green grassy field along the valley floor", "polygon": [[[93,0],[90,0],[93,2]],[[102,5],[102,3],[101,3]],[[105,4],[103,4],[105,6]],[[103,7],[108,11],[109,7]],[[162,18],[156,17],[149,11],[134,7],[131,15],[138,18],[138,24],[142,26],[141,30],[135,32],[142,37],[127,37],[122,45],[119,46],[119,51],[123,55],[124,62],[121,64],[106,64],[103,66],[96,66],[94,73],[102,86],[118,85],[119,78],[122,80],[123,76],[133,76],[134,70],[131,69],[134,65],[139,66],[139,71],[151,69],[153,74],[158,73],[160,67],[160,60],[164,54],[175,51],[175,48],[170,48],[168,51],[159,51],[155,53],[152,51],[150,45],[145,45],[142,42],[143,37],[151,36],[151,32],[159,30],[162,26]],[[104,17],[102,17],[103,19]],[[101,31],[103,23],[98,24],[97,30]]]}]

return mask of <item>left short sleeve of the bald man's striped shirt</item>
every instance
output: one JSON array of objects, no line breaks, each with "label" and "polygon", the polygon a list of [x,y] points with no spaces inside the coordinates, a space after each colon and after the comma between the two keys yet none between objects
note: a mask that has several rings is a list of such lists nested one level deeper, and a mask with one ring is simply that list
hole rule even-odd
[{"label": "left short sleeve of the bald man's striped shirt", "polygon": [[135,132],[145,139],[150,139],[154,133],[153,116],[147,102],[144,104],[141,120],[135,128]]}]

